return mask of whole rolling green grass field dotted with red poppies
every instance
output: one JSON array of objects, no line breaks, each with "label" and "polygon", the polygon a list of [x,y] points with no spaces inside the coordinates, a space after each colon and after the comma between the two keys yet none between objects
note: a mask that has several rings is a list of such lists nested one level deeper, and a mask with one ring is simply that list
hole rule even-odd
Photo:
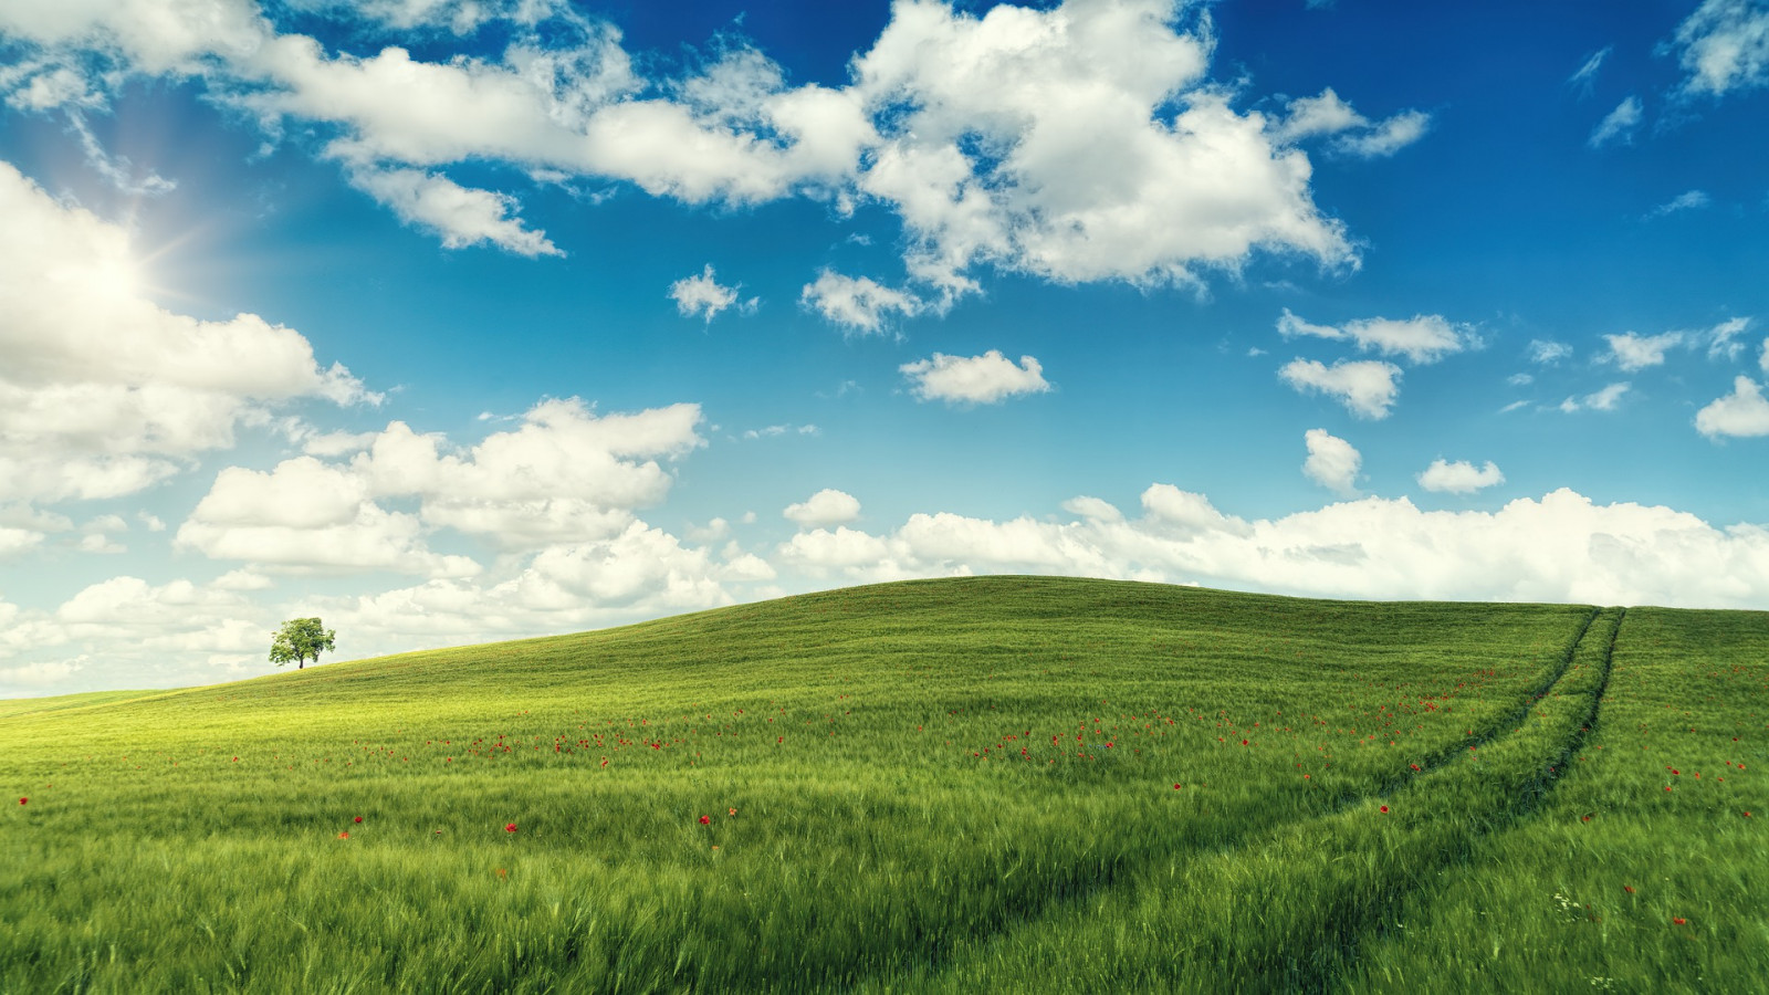
[{"label": "whole rolling green grass field dotted with red poppies", "polygon": [[1764,991],[1764,770],[1769,613],[879,584],[4,703],[0,991]]}]

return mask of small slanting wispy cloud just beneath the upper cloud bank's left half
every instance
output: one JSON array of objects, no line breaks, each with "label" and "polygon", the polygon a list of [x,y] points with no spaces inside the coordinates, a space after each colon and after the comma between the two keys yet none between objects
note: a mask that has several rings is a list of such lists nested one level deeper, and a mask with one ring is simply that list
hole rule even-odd
[{"label": "small slanting wispy cloud just beneath the upper cloud bank's left half", "polygon": [[465,188],[425,170],[352,166],[347,175],[402,221],[442,235],[442,248],[490,243],[517,255],[564,255],[545,232],[513,216],[517,198],[506,193]]}]

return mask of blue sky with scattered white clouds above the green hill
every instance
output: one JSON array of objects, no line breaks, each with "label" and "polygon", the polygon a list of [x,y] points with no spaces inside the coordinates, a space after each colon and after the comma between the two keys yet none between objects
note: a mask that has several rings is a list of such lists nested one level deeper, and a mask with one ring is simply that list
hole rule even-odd
[{"label": "blue sky with scattered white clouds above the green hill", "polygon": [[1769,4],[0,5],[0,698],[906,577],[1769,609]]}]

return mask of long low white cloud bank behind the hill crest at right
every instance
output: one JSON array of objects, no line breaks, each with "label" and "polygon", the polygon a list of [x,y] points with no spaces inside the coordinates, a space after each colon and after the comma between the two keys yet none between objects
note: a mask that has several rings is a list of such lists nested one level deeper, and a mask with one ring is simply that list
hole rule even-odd
[{"label": "long low white cloud bank behind the hill crest at right", "polygon": [[1141,519],[1068,522],[916,513],[890,535],[800,533],[780,556],[849,579],[1037,570],[1336,598],[1769,607],[1769,529],[1564,489],[1498,512],[1364,498],[1254,522],[1171,485],[1143,505]]}]

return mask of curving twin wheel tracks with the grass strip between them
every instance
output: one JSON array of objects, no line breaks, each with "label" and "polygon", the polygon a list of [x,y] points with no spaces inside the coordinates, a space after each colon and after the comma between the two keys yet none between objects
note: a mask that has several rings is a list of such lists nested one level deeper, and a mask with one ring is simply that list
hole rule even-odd
[{"label": "curving twin wheel tracks with the grass strip between them", "polygon": [[[1332,991],[1401,899],[1530,816],[1597,721],[1626,609],[1592,611],[1571,650],[1505,717],[1327,814],[1127,868],[945,965],[862,990],[973,990],[1040,977],[1081,990]],[[1061,944],[1044,942],[1063,937]],[[1060,954],[1058,954],[1060,951]]]}]

